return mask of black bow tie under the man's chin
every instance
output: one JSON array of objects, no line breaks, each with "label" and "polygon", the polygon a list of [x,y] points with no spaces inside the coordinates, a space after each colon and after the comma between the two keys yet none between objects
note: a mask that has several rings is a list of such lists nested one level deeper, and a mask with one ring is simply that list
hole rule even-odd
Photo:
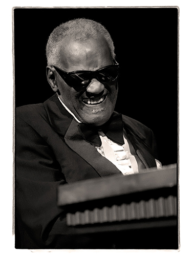
[{"label": "black bow tie under the man's chin", "polygon": [[78,124],[79,131],[84,138],[92,145],[101,146],[101,140],[98,131],[102,132],[112,141],[123,145],[123,121],[121,114],[113,114],[108,122],[101,126],[91,126],[85,123]]}]

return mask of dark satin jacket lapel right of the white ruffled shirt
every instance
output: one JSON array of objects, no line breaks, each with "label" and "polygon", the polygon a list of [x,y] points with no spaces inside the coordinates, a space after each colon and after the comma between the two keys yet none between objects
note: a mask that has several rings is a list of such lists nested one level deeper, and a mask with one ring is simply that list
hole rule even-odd
[{"label": "dark satin jacket lapel right of the white ruffled shirt", "polygon": [[151,148],[148,147],[142,139],[140,139],[137,135],[133,134],[133,132],[130,131],[129,125],[124,124],[124,129],[127,133],[128,138],[133,144],[135,152],[142,164],[146,168],[156,167],[155,158],[152,155]]}]

